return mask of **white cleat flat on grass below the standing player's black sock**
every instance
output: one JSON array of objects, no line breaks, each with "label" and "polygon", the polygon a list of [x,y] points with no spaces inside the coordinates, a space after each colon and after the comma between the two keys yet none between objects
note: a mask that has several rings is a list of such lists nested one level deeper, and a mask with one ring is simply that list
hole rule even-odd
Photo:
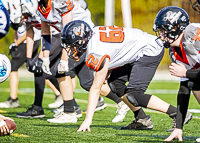
[{"label": "white cleat flat on grass below the standing player's black sock", "polygon": [[76,123],[77,117],[75,113],[64,113],[61,112],[57,117],[53,119],[47,119],[50,123]]}]

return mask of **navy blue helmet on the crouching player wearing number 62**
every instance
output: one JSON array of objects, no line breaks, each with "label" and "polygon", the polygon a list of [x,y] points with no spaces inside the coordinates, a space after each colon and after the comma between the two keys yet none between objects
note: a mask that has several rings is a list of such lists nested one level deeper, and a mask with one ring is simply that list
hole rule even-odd
[{"label": "navy blue helmet on the crouching player wearing number 62", "polygon": [[82,20],[75,20],[65,25],[61,41],[66,50],[70,49],[69,57],[78,61],[87,50],[87,44],[91,37],[92,29],[90,26]]}]

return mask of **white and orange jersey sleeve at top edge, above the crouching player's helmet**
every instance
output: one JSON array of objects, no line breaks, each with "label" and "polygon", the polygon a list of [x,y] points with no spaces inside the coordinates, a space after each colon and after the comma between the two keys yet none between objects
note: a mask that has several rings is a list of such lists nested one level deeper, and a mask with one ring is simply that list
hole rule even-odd
[{"label": "white and orange jersey sleeve at top edge, above the crouching player's helmet", "polygon": [[73,0],[52,0],[52,7],[54,7],[61,16],[64,16],[74,8]]}]

